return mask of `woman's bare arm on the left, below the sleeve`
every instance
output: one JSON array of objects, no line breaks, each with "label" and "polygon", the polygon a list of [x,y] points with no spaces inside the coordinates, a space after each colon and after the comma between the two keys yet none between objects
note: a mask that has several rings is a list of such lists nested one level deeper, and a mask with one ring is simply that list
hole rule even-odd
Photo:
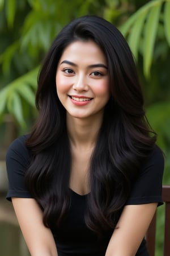
[{"label": "woman's bare arm on the left, below the sleeve", "polygon": [[31,256],[58,256],[53,234],[44,226],[36,201],[13,197],[12,204]]}]

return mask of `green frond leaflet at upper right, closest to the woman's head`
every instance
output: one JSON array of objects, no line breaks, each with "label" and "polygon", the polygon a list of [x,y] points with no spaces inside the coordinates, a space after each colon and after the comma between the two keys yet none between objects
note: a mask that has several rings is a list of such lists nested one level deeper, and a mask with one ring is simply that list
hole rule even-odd
[{"label": "green frond leaflet at upper right, closest to the woman's head", "polygon": [[128,43],[131,48],[131,51],[133,52],[133,55],[135,59],[138,59],[138,46],[139,46],[139,38],[142,34],[142,27],[143,23],[146,18],[148,10],[143,11],[139,16],[136,22],[134,23],[134,26],[131,27],[131,31],[128,38]]}]

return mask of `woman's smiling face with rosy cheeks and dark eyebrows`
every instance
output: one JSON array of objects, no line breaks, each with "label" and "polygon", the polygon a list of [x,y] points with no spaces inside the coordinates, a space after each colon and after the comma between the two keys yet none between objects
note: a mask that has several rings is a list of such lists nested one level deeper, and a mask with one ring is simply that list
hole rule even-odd
[{"label": "woman's smiling face with rosy cheeks and dark eyebrows", "polygon": [[76,41],[65,48],[56,72],[58,98],[75,118],[103,115],[109,92],[107,60],[96,43]]}]

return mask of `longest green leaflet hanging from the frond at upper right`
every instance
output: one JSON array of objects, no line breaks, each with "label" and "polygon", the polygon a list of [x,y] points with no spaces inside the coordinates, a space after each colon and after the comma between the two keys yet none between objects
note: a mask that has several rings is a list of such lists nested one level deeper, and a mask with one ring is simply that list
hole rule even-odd
[{"label": "longest green leaflet hanging from the frond at upper right", "polygon": [[156,2],[156,5],[153,6],[148,13],[146,21],[143,47],[143,71],[146,77],[150,76],[150,67],[152,62],[152,55],[154,52],[154,44],[159,23],[160,9],[161,2]]}]

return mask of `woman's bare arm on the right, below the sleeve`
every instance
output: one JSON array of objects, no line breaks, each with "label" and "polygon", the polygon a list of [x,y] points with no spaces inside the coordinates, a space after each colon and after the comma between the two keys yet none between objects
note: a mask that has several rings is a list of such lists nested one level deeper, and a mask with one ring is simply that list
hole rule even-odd
[{"label": "woman's bare arm on the right, below the sleeve", "polygon": [[105,256],[135,256],[157,205],[126,205],[109,241]]}]

